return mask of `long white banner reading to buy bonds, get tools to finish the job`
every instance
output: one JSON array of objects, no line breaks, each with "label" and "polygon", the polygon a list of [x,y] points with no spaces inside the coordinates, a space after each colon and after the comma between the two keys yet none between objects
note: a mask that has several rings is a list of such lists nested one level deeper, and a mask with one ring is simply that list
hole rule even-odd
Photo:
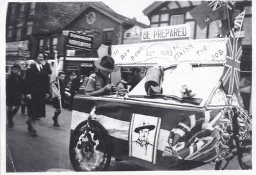
[{"label": "long white banner reading to buy bonds, get tools to finish the job", "polygon": [[226,38],[176,40],[113,45],[111,56],[119,65],[188,63],[224,63]]}]

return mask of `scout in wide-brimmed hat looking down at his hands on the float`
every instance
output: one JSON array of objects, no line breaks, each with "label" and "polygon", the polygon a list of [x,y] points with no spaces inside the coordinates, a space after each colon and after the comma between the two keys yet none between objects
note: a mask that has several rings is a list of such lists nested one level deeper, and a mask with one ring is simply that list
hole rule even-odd
[{"label": "scout in wide-brimmed hat looking down at his hands on the float", "polygon": [[111,56],[104,56],[101,60],[94,61],[94,65],[99,71],[90,75],[86,85],[85,95],[108,95],[111,91],[115,90],[109,79],[109,74],[116,72],[118,67],[115,65],[115,61]]}]

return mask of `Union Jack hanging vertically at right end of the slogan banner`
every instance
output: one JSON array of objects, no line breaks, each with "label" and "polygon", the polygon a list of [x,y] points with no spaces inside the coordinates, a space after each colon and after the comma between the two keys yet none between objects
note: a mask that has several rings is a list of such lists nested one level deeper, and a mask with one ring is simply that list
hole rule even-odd
[{"label": "Union Jack hanging vertically at right end of the slogan banner", "polygon": [[[232,33],[232,34],[231,34]],[[227,42],[226,63],[222,75],[222,83],[224,90],[232,95],[239,88],[240,83],[240,63],[242,56],[242,47],[238,43],[239,38],[232,38],[234,31],[230,31],[230,37]]]}]

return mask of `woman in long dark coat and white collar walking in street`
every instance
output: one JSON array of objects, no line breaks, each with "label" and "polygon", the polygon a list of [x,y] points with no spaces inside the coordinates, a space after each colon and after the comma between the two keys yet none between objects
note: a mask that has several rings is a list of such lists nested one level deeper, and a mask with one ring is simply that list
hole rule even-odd
[{"label": "woman in long dark coat and white collar walking in street", "polygon": [[35,54],[35,64],[32,64],[26,72],[26,97],[32,102],[32,115],[28,116],[28,130],[32,136],[37,136],[35,119],[45,118],[45,99],[49,97],[49,76],[42,63],[44,54]]}]

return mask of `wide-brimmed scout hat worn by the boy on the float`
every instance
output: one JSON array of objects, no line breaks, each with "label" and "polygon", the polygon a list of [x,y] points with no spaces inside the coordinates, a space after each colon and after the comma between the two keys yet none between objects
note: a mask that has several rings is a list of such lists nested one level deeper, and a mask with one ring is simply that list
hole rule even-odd
[{"label": "wide-brimmed scout hat worn by the boy on the float", "polygon": [[101,60],[94,61],[94,65],[100,70],[104,70],[106,72],[118,71],[118,66],[115,65],[115,61],[111,56],[104,56]]}]

